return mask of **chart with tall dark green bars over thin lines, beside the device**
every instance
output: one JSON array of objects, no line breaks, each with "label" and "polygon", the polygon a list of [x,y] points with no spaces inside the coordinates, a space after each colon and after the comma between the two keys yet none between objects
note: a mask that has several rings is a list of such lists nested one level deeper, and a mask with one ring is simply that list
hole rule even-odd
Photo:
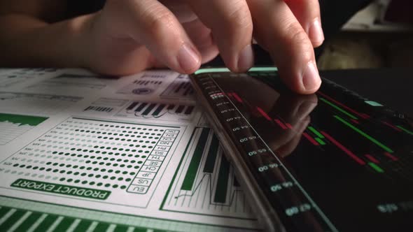
[{"label": "chart with tall dark green bars over thin lines, beside the device", "polygon": [[162,210],[253,219],[244,192],[209,128],[197,128]]}]

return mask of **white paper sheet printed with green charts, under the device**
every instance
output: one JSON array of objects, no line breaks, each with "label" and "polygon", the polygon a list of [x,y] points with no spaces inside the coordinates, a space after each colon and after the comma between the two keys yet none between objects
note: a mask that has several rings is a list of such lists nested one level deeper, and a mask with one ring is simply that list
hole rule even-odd
[{"label": "white paper sheet printed with green charts, under the device", "polygon": [[0,231],[260,229],[186,75],[0,70]]}]

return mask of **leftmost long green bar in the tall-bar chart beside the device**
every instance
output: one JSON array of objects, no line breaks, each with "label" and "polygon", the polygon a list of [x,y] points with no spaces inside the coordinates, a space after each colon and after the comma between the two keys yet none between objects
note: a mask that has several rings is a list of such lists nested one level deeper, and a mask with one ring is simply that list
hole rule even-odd
[{"label": "leftmost long green bar in the tall-bar chart beside the device", "polygon": [[201,132],[200,139],[198,140],[197,147],[195,147],[195,152],[193,158],[190,161],[188,171],[186,171],[185,179],[182,182],[182,190],[190,191],[193,189],[193,184],[195,183],[195,177],[197,176],[198,168],[200,167],[202,154],[204,153],[205,145],[207,145],[207,139],[209,135],[209,128],[203,128]]}]

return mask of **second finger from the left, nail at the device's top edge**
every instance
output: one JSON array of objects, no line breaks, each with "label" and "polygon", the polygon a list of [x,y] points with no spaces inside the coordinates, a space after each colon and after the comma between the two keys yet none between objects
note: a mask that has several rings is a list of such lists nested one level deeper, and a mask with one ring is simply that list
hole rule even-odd
[{"label": "second finger from the left, nail at the device's top edge", "polygon": [[245,0],[186,0],[211,29],[214,42],[231,71],[253,66],[253,23]]}]

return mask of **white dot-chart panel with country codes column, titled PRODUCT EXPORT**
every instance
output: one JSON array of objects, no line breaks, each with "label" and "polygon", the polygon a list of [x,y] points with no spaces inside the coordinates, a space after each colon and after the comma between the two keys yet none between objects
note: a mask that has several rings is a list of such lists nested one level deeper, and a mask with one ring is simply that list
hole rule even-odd
[{"label": "white dot-chart panel with country codes column, titled PRODUCT EXPORT", "polygon": [[[72,117],[2,161],[1,185],[11,183],[26,190],[27,183],[93,189],[107,193],[105,202],[146,207],[179,136],[179,126]],[[139,201],[128,202],[137,196]]]}]

